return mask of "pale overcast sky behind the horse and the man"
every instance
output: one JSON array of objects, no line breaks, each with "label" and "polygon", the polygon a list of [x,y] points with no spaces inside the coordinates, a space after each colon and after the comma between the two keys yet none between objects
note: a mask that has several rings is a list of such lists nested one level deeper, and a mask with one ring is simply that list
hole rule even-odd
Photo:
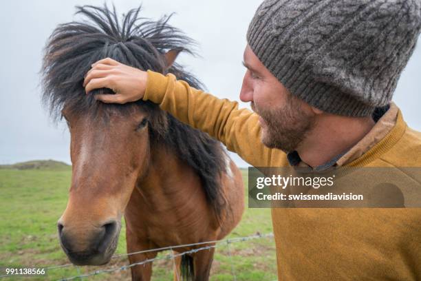
[{"label": "pale overcast sky behind the horse and the man", "polygon": [[[208,91],[239,101],[248,23],[261,0],[114,1],[121,14],[142,3],[142,17],[158,19],[176,14],[171,25],[199,43],[202,58],[180,56],[204,82]],[[69,134],[64,124],[54,125],[41,106],[39,87],[42,50],[58,23],[80,19],[74,6],[102,6],[104,1],[6,1],[0,25],[0,164],[24,160],[55,159],[70,163]],[[111,4],[113,2],[107,1]],[[394,95],[410,127],[421,131],[421,48],[418,46],[404,70]],[[240,103],[241,107],[248,107]],[[246,163],[234,157],[237,164]]]}]

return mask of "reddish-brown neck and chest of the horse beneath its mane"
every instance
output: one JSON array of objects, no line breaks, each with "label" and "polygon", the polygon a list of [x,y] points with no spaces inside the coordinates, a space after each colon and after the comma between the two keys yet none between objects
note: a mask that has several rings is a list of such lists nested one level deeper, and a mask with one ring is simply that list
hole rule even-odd
[{"label": "reddish-brown neck and chest of the horse beneath its mane", "polygon": [[127,227],[142,229],[158,245],[212,237],[219,227],[199,176],[164,148],[151,149],[149,169],[138,180],[125,216]]}]

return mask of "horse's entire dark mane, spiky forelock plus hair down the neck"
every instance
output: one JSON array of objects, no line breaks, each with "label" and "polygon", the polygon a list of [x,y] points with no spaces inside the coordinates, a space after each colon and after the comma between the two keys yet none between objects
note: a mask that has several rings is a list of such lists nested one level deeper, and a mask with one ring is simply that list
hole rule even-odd
[{"label": "horse's entire dark mane, spiky forelock plus hair down the neck", "polygon": [[205,133],[177,121],[173,116],[150,102],[138,101],[126,105],[105,104],[94,99],[94,94],[112,93],[109,89],[95,90],[85,95],[83,78],[91,64],[110,57],[120,63],[141,70],[153,70],[163,74],[169,72],[191,86],[202,88],[202,84],[180,65],[166,67],[163,54],[172,49],[194,54],[189,46],[193,41],[162,17],[158,21],[139,18],[140,8],[130,10],[118,20],[116,9],[107,6],[77,6],[76,14],[87,21],[63,23],[52,32],[45,46],[43,57],[43,103],[50,114],[58,120],[66,107],[75,114],[90,114],[94,117],[98,108],[102,111],[118,111],[127,114],[131,110],[147,110],[152,115],[151,142],[160,141],[186,161],[202,180],[206,199],[215,209],[217,217],[226,204],[220,176],[226,169],[225,152],[219,142]]}]

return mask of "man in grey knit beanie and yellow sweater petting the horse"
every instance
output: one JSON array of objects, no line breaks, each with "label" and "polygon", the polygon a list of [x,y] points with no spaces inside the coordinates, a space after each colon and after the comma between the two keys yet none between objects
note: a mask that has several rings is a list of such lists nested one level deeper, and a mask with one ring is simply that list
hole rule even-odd
[{"label": "man in grey knit beanie and yellow sweater petting the horse", "polygon": [[[415,0],[264,1],[240,93],[255,113],[111,59],[84,85],[114,89],[105,103],[158,103],[256,167],[420,167],[421,134],[391,103],[420,27]],[[421,280],[420,209],[279,208],[272,221],[279,280]]]}]

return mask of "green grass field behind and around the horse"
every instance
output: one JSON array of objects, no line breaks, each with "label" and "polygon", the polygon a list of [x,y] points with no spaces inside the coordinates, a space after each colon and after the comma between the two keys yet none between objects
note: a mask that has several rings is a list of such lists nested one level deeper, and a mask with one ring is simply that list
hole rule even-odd
[{"label": "green grass field behind and around the horse", "polygon": [[[0,269],[41,268],[68,263],[58,244],[56,222],[66,206],[72,172],[70,167],[61,164],[32,164],[34,163],[24,167],[0,167]],[[246,171],[243,173],[247,183]],[[243,219],[228,238],[270,232],[270,209],[246,208]],[[126,253],[124,226],[116,253]],[[163,252],[160,255],[168,253]],[[114,258],[102,267],[71,266],[50,269],[46,276],[25,280],[57,280],[125,264],[128,264],[127,258]],[[172,280],[172,267],[172,260],[155,262],[152,279]],[[234,280],[233,273],[237,280],[275,280],[276,256],[273,238],[232,243],[229,252],[226,244],[220,244],[215,253],[210,280]],[[0,271],[0,275],[2,274],[5,274],[4,270]],[[129,270],[124,270],[102,273],[84,280],[130,279]]]}]

